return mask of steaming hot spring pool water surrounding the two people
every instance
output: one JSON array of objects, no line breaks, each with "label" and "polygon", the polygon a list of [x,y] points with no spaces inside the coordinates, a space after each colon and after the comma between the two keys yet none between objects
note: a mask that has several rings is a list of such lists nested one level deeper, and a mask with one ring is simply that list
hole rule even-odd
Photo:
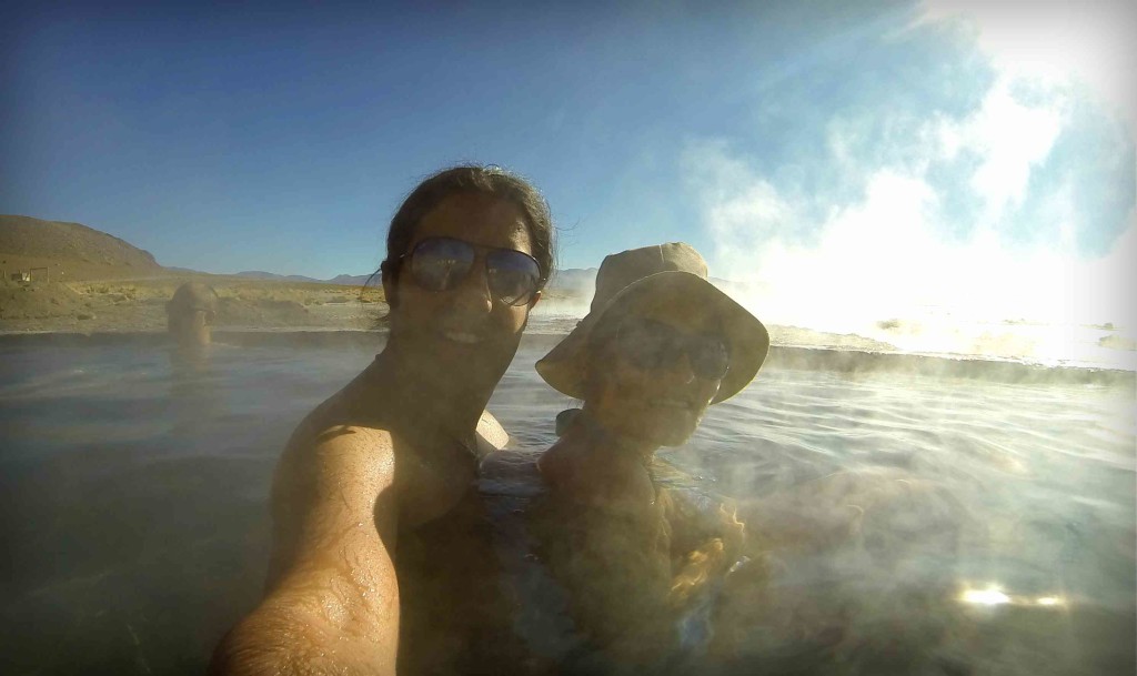
[{"label": "steaming hot spring pool water surrounding the two people", "polygon": [[[198,365],[155,339],[0,342],[3,673],[200,673],[257,601],[276,457],[379,339],[227,340]],[[490,406],[529,452],[573,404],[532,369],[553,340]],[[850,673],[921,641],[960,673],[1132,673],[1131,374],[1021,372],[786,350],[663,453],[744,520],[864,512],[848,546],[781,557],[755,651],[831,606],[873,646]]]}]

